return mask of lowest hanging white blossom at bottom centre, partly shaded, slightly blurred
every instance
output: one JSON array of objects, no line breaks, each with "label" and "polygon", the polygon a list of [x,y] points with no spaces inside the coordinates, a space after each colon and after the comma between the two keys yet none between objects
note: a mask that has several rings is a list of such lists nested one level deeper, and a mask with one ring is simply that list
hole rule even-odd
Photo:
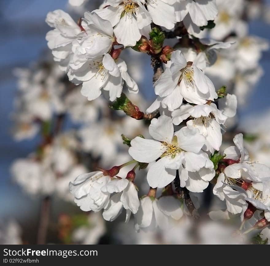
[{"label": "lowest hanging white blossom at bottom centre, partly shaded, slightly blurred", "polygon": [[135,230],[168,229],[172,219],[183,216],[181,202],[174,196],[162,196],[159,199],[146,196],[140,200],[140,207],[135,216]]}]

